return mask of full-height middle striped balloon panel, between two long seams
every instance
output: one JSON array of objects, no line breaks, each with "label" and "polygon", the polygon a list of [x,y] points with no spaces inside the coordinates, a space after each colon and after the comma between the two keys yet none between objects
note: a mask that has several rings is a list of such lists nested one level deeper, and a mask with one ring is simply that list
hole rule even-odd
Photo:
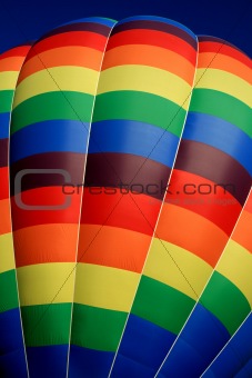
[{"label": "full-height middle striped balloon panel, between two long seams", "polygon": [[112,30],[87,161],[72,377],[109,375],[173,166],[195,61],[196,39],[177,22],[131,18]]}]

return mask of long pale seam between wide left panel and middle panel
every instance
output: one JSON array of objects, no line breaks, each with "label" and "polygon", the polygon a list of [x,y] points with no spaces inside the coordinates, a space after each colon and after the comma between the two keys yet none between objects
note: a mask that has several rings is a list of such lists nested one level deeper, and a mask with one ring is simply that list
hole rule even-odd
[{"label": "long pale seam between wide left panel and middle panel", "polygon": [[[91,136],[93,112],[94,112],[95,100],[97,100],[97,94],[98,94],[98,87],[99,87],[99,81],[100,81],[100,76],[101,76],[101,70],[102,70],[102,64],[103,64],[107,47],[108,47],[108,43],[109,43],[111,32],[112,32],[115,24],[117,24],[117,22],[111,27],[110,32],[107,37],[107,42],[105,42],[104,50],[103,50],[103,53],[102,53],[99,74],[98,74],[98,79],[97,79],[95,94],[93,96],[93,105],[92,105],[91,117],[90,117],[89,136],[88,136],[88,140],[87,140],[87,153],[85,153],[85,161],[84,161],[83,176],[82,176],[82,182],[81,182],[82,183],[82,186],[81,186],[81,201],[80,201],[79,226],[78,226],[78,236],[77,236],[77,246],[75,246],[75,261],[74,261],[75,268],[78,267],[78,263],[80,262],[80,261],[78,261],[78,249],[79,249],[79,241],[80,241],[80,226],[81,226],[82,202],[83,202],[83,192],[84,192],[85,168],[87,168],[87,160],[88,160],[88,150],[89,150],[90,136]],[[74,279],[73,279],[72,307],[71,307],[71,315],[70,315],[70,327],[69,327],[70,331],[69,331],[69,347],[68,347],[68,357],[67,357],[67,375],[65,375],[65,378],[69,377],[70,349],[71,349],[71,336],[72,336],[72,317],[73,317],[73,304],[74,304],[74,297],[75,297],[77,273],[78,273],[78,271],[75,270]]]}]

